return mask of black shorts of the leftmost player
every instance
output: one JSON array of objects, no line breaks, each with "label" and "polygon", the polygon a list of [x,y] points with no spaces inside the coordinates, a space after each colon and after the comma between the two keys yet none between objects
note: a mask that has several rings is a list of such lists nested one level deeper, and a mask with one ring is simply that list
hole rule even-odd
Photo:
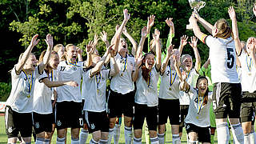
[{"label": "black shorts of the leftmost player", "polygon": [[19,133],[22,138],[31,137],[32,113],[18,113],[12,110],[10,106],[6,106],[5,123],[8,138],[18,137]]}]

